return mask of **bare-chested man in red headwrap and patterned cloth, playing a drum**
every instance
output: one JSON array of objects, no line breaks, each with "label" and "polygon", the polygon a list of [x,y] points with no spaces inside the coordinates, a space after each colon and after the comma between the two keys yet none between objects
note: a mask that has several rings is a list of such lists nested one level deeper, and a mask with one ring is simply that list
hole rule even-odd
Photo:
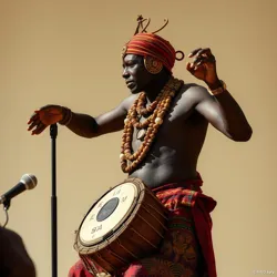
[{"label": "bare-chested man in red headwrap and patterned cloth, playing a drum", "polygon": [[[57,122],[84,137],[123,130],[123,172],[142,179],[171,216],[160,253],[119,268],[117,276],[215,277],[209,213],[216,202],[202,193],[197,160],[208,123],[237,142],[248,141],[252,127],[219,80],[209,49],[192,51],[188,57],[194,60],[186,66],[206,83],[208,92],[173,78],[175,60],[184,58],[176,55],[183,53],[154,32],[146,32],[144,21],[138,18],[136,33],[123,51],[123,78],[131,96],[98,117],[59,105],[43,106],[31,116],[29,131],[40,134]],[[93,275],[79,261],[70,276]]]}]

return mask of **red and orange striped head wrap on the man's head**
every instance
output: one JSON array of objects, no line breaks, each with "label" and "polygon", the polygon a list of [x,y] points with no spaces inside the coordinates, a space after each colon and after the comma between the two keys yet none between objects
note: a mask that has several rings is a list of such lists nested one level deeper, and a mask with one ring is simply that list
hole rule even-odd
[{"label": "red and orange striped head wrap on the man's head", "polygon": [[126,43],[126,54],[150,55],[172,72],[176,52],[172,44],[153,33],[137,33]]}]

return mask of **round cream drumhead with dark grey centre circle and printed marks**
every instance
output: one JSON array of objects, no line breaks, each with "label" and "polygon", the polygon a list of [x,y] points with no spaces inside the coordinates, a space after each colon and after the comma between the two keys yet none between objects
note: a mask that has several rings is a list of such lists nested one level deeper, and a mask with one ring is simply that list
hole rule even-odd
[{"label": "round cream drumhead with dark grey centre circle and printed marks", "polygon": [[100,198],[83,219],[79,238],[84,246],[92,246],[109,237],[132,213],[138,189],[133,183],[123,183]]}]

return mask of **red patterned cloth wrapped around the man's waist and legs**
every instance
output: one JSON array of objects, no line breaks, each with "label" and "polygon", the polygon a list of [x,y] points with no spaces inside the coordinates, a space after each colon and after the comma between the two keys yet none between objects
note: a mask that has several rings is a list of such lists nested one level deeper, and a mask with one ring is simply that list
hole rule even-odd
[{"label": "red patterned cloth wrapped around the man's waist and legs", "polygon": [[[160,253],[132,263],[115,277],[216,277],[209,213],[216,202],[202,193],[196,179],[154,188],[170,212],[168,233]],[[79,260],[69,277],[92,277]]]}]

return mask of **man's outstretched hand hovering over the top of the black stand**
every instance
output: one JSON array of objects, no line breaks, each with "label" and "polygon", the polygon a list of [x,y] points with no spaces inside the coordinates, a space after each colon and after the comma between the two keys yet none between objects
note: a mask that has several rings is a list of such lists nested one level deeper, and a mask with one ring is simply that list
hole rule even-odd
[{"label": "man's outstretched hand hovering over the top of the black stand", "polygon": [[54,124],[63,119],[63,109],[60,105],[45,105],[34,111],[27,124],[28,131],[32,135],[42,133],[49,125]]}]

